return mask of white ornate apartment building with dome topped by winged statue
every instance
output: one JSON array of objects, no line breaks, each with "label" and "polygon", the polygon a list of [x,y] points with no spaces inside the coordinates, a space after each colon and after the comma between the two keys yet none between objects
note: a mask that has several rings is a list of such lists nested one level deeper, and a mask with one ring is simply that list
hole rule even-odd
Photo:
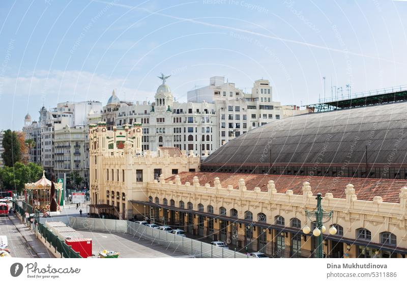
[{"label": "white ornate apartment building with dome topped by winged statue", "polygon": [[142,124],[142,150],[178,147],[208,155],[219,143],[215,104],[176,102],[165,79],[152,104],[121,102],[113,91],[103,107],[102,121],[108,130],[112,130],[113,125]]}]

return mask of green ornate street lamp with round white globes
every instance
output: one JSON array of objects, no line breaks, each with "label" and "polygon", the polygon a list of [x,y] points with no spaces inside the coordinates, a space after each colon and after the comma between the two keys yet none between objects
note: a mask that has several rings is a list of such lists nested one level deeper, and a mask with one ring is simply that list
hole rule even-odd
[{"label": "green ornate street lamp with round white globes", "polygon": [[[316,208],[313,211],[308,211],[305,210],[305,217],[307,217],[311,223],[314,223],[316,225],[315,229],[312,231],[312,234],[317,238],[317,247],[316,247],[316,258],[323,258],[324,257],[324,249],[322,246],[322,234],[325,232],[326,228],[323,225],[324,223],[327,223],[328,221],[331,220],[332,215],[333,215],[333,210],[331,211],[325,211],[322,208],[321,205],[321,193],[316,194]],[[312,219],[311,219],[312,217]],[[311,231],[311,229],[308,227],[308,225],[305,225],[303,228],[304,234],[308,234]],[[332,229],[332,227],[329,229],[330,234],[335,234],[336,229]]]}]

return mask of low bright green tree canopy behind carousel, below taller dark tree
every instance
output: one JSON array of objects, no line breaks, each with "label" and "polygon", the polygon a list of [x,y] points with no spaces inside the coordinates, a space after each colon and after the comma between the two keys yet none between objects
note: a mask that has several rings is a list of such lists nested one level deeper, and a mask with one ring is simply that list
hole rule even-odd
[{"label": "low bright green tree canopy behind carousel, below taller dark tree", "polygon": [[38,181],[42,175],[42,168],[34,163],[27,165],[14,163],[14,167],[5,166],[0,169],[0,179],[6,190],[16,189],[18,193],[24,190],[25,183]]}]

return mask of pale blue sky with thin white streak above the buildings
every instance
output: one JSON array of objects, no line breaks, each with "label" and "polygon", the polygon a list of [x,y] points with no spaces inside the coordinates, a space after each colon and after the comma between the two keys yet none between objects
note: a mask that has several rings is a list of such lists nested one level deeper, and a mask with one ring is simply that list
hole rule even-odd
[{"label": "pale blue sky with thin white streak above the buildings", "polygon": [[[269,79],[273,100],[304,105],[407,84],[407,2],[0,2],[0,129],[19,130],[44,104],[151,100],[161,72],[177,100],[224,75]],[[404,16],[404,17],[403,17]]]}]

